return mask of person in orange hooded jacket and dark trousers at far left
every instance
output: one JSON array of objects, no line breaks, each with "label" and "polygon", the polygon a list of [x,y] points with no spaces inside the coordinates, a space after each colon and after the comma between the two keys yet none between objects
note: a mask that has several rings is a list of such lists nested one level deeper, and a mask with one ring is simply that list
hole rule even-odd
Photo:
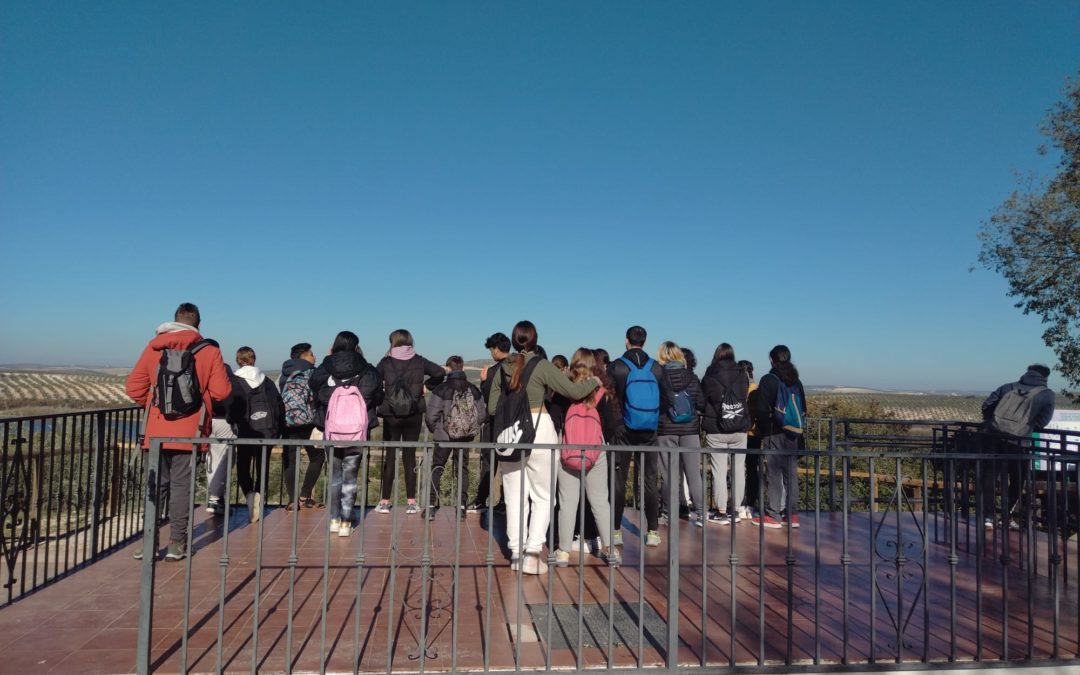
[{"label": "person in orange hooded jacket and dark trousers at far left", "polygon": [[[176,309],[174,321],[158,326],[157,335],[139,355],[135,367],[127,375],[124,389],[135,403],[146,408],[146,433],[143,449],[149,449],[154,437],[208,436],[214,401],[225,401],[232,392],[232,382],[221,360],[221,350],[210,341],[194,354],[194,372],[202,392],[202,407],[179,419],[166,419],[157,401],[154,388],[158,382],[158,366],[162,351],[166,349],[186,350],[202,341],[199,334],[199,308],[184,302]],[[200,423],[202,424],[200,427]],[[191,497],[190,443],[165,443],[161,448],[161,463],[158,468],[158,485],[162,498],[167,495],[170,543],[166,561],[180,561],[187,556],[188,501]],[[200,446],[205,451],[205,446]],[[135,554],[141,558],[141,548]]]}]

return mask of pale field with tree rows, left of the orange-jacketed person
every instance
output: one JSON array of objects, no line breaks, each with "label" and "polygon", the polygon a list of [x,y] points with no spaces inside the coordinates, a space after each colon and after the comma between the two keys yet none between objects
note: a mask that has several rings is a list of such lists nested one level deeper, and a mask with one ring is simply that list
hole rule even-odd
[{"label": "pale field with tree rows, left of the orange-jacketed person", "polygon": [[35,415],[133,405],[124,378],[93,370],[0,370],[0,414]]}]

